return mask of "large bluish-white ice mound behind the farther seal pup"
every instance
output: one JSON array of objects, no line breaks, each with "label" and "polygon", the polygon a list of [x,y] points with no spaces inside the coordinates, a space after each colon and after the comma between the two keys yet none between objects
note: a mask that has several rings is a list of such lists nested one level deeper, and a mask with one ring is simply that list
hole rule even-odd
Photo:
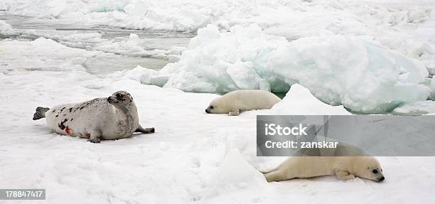
[{"label": "large bluish-white ice mound behind the farther seal pup", "polygon": [[164,87],[188,92],[286,92],[299,82],[327,104],[363,113],[390,112],[429,96],[429,89],[419,85],[429,73],[418,60],[333,33],[289,42],[254,24],[230,32],[201,28],[180,60],[160,75],[168,76]]}]

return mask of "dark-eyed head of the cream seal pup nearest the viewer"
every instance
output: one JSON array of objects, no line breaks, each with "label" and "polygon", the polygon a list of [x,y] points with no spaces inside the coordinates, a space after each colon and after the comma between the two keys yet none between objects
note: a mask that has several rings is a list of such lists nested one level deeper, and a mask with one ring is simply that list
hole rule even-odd
[{"label": "dark-eyed head of the cream seal pup nearest the viewer", "polygon": [[355,164],[363,166],[362,168],[358,168],[359,169],[358,176],[362,178],[370,179],[372,181],[378,181],[378,182],[385,180],[380,163],[374,157],[372,156],[360,157],[360,162]]}]

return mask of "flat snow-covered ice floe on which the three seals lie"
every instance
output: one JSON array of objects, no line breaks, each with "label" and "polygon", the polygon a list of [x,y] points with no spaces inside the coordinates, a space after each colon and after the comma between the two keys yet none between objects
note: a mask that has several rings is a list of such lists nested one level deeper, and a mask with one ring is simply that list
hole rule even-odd
[{"label": "flat snow-covered ice floe on which the three seals lie", "polygon": [[[424,203],[432,196],[434,157],[378,158],[384,183],[340,182],[333,176],[266,183],[255,169],[285,158],[256,156],[255,120],[277,107],[239,117],[205,114],[218,95],[141,84],[135,78],[141,67],[92,75],[83,61],[105,53],[45,38],[3,40],[0,52],[0,186],[46,188],[45,203]],[[117,90],[133,95],[141,124],[155,127],[155,134],[90,144],[53,133],[43,119],[31,120],[37,106],[107,97]],[[288,96],[279,105],[319,103],[299,85]],[[343,107],[323,105],[318,114],[327,109],[341,113]]]}]

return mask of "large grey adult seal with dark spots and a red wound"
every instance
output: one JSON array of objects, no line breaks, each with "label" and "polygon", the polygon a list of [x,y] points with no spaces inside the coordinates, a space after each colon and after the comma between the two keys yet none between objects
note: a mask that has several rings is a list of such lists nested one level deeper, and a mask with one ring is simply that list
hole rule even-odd
[{"label": "large grey adult seal with dark spots and a red wound", "polygon": [[75,104],[60,104],[51,109],[36,108],[33,120],[45,117],[48,127],[59,134],[100,139],[121,139],[134,132],[153,133],[154,128],[139,124],[136,104],[128,92],[119,91],[108,98],[96,98]]}]

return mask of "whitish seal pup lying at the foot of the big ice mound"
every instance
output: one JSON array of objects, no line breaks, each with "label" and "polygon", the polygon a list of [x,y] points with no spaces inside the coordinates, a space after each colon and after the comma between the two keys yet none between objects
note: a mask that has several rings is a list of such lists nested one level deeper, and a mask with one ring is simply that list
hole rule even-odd
[{"label": "whitish seal pup lying at the foot of the big ice mound", "polygon": [[216,98],[205,109],[206,113],[239,115],[242,111],[270,109],[281,101],[271,92],[263,90],[236,90]]}]

